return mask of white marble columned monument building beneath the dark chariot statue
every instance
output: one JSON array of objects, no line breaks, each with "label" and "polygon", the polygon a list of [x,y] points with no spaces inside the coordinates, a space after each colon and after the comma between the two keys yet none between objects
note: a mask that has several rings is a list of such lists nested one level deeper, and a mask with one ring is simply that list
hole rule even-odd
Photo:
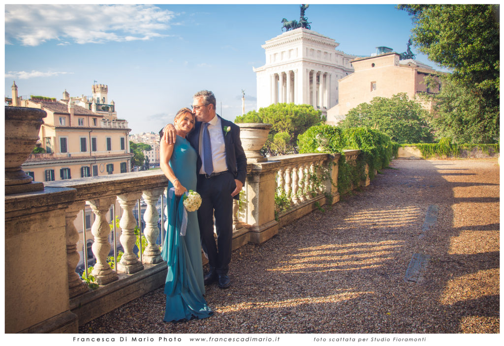
[{"label": "white marble columned monument building beneath the dark chariot statue", "polygon": [[257,73],[257,108],[274,103],[310,104],[327,114],[338,103],[338,80],[353,72],[354,55],[315,31],[287,31],[262,47],[266,64]]}]

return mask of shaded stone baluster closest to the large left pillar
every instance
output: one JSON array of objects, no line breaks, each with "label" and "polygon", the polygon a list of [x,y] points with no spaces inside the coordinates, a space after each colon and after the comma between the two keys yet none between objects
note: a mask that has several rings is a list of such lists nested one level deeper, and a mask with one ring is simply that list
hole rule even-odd
[{"label": "shaded stone baluster closest to the large left pillar", "polygon": [[[79,231],[75,228],[74,220],[77,214],[84,209],[84,202],[76,202],[65,209],[66,239],[67,239],[67,267],[68,267],[68,289],[70,298],[76,297],[81,293],[87,292],[88,286],[81,280],[79,274],[75,272],[81,256],[77,251],[77,242],[79,241]],[[86,225],[83,225],[84,232]],[[85,265],[85,268],[87,266]]]}]

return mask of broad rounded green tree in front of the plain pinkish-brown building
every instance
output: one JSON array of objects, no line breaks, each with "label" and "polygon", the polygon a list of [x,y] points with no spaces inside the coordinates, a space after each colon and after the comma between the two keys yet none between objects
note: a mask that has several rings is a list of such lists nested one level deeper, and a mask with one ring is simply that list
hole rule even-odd
[{"label": "broad rounded green tree in front of the plain pinkish-brown building", "polygon": [[433,138],[427,114],[419,103],[399,93],[390,99],[375,97],[370,103],[352,108],[340,127],[379,130],[398,143],[430,142]]}]

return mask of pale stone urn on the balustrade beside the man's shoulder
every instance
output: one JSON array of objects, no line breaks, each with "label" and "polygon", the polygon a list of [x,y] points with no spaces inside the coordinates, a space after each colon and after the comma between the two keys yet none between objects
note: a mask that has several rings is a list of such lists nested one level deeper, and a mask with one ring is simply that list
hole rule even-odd
[{"label": "pale stone urn on the balustrade beside the man's shoulder", "polygon": [[248,162],[264,162],[268,159],[259,150],[268,139],[272,124],[238,123],[240,127],[241,146],[245,150]]}]

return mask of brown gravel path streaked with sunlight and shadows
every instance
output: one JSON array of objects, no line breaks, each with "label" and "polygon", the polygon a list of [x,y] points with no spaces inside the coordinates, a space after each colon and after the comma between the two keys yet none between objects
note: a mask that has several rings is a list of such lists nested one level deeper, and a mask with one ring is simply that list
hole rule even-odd
[{"label": "brown gravel path streaked with sunlight and shadows", "polygon": [[[351,196],[233,252],[215,315],[163,323],[160,288],[80,327],[92,333],[498,333],[495,159],[393,160]],[[425,232],[429,205],[437,222]],[[423,237],[422,237],[423,235]],[[429,255],[418,282],[414,253]]]}]

